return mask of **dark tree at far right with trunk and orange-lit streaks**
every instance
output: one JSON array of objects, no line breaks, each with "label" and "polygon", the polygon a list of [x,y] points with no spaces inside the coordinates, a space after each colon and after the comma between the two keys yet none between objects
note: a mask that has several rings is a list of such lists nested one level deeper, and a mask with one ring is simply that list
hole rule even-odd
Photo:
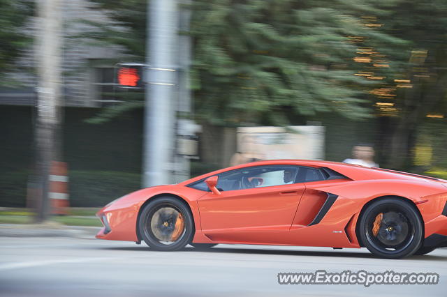
[{"label": "dark tree at far right with trunk and orange-lit streaks", "polygon": [[388,49],[387,78],[376,90],[379,112],[388,116],[381,149],[388,167],[409,169],[418,126],[447,112],[447,3],[400,0],[389,12],[377,20],[381,30],[407,44]]}]

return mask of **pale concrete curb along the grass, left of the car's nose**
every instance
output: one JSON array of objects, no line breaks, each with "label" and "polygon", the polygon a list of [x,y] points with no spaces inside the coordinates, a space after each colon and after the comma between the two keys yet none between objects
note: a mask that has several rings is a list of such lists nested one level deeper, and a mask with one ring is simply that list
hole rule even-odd
[{"label": "pale concrete curb along the grass, left of the car's nose", "polygon": [[0,237],[71,237],[94,239],[101,227],[59,224],[0,224]]}]

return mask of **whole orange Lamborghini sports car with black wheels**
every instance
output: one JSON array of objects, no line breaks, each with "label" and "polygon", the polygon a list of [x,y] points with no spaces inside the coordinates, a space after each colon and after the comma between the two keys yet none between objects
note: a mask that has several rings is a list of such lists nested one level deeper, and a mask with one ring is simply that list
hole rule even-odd
[{"label": "whole orange Lamborghini sports car with black wheels", "polygon": [[96,238],[154,250],[219,243],[366,247],[397,259],[447,247],[447,181],[337,162],[269,160],[132,192]]}]

